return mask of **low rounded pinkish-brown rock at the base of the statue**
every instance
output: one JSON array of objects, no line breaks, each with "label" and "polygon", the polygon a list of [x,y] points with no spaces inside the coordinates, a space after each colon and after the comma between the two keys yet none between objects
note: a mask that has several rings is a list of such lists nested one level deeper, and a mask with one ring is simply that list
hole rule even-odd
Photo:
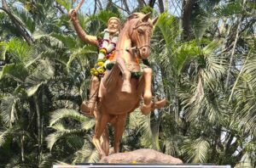
[{"label": "low rounded pinkish-brown rock at the base of the statue", "polygon": [[162,154],[153,149],[138,149],[131,152],[111,154],[100,160],[100,163],[120,163],[120,164],[182,164],[183,161],[172,157],[171,155]]}]

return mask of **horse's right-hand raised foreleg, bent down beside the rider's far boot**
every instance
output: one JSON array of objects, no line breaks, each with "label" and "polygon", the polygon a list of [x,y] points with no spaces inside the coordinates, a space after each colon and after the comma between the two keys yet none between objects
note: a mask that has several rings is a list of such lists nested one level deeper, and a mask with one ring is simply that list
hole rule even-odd
[{"label": "horse's right-hand raised foreleg, bent down beside the rider's far boot", "polygon": [[141,107],[141,111],[144,115],[148,115],[151,111],[151,100],[152,100],[152,92],[151,92],[151,81],[152,81],[153,70],[151,68],[143,69],[143,79],[144,80],[144,89],[143,89],[143,100],[144,104]]}]

